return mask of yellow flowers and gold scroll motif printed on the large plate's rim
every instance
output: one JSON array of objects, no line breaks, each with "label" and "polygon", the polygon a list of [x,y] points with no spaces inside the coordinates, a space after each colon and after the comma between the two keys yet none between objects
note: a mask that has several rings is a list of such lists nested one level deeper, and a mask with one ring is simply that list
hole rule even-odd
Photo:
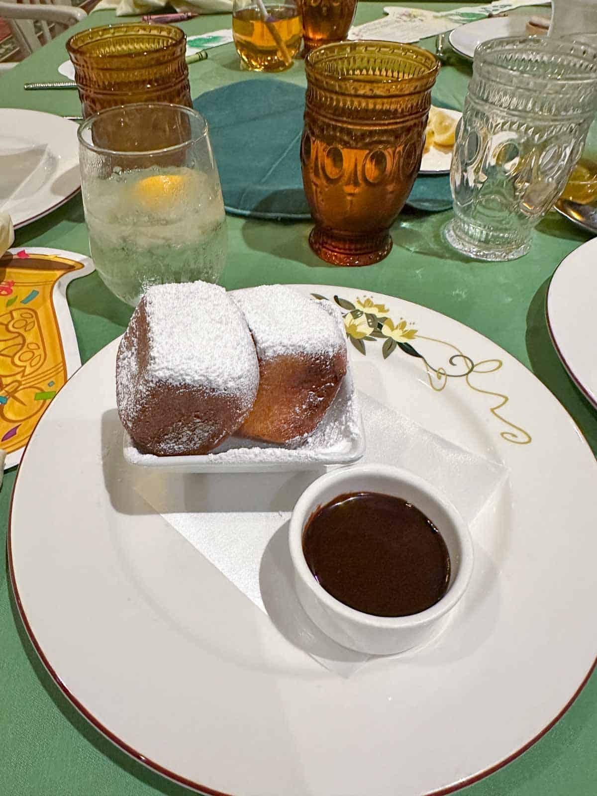
[{"label": "yellow flowers and gold scroll motif printed on the large plate's rim", "polygon": [[[320,300],[326,298],[326,296],[317,293],[312,295]],[[503,365],[501,359],[484,359],[474,362],[457,345],[420,334],[419,330],[415,329],[404,318],[400,318],[396,323],[393,322],[389,316],[389,308],[384,304],[375,303],[373,298],[359,297],[356,298],[355,302],[351,302],[336,295],[334,296],[334,302],[344,310],[342,317],[344,318],[347,338],[363,356],[367,353],[367,345],[383,340],[381,353],[384,360],[396,349],[400,349],[410,357],[416,357],[421,360],[425,367],[429,384],[435,392],[442,392],[449,380],[463,379],[466,386],[474,392],[482,393],[482,395],[490,396],[494,399],[491,401],[494,405],[490,406],[490,412],[497,420],[507,426],[507,429],[500,432],[501,439],[515,445],[528,445],[532,441],[528,431],[517,426],[501,414],[501,410],[509,402],[508,396],[505,396],[502,392],[483,389],[476,382],[473,383],[471,381],[474,376],[497,373]],[[415,343],[416,340],[438,343],[451,349],[452,353],[448,357],[447,365],[439,365],[439,367],[431,365],[423,353],[420,352],[419,345]]]}]

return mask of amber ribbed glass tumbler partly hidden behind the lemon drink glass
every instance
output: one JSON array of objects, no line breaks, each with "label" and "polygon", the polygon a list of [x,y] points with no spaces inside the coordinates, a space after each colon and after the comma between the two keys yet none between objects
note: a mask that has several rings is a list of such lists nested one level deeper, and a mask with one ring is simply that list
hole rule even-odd
[{"label": "amber ribbed glass tumbler partly hidden behind the lemon drink glass", "polygon": [[66,49],[84,119],[139,102],[192,107],[186,36],[174,25],[105,25],[75,33]]}]

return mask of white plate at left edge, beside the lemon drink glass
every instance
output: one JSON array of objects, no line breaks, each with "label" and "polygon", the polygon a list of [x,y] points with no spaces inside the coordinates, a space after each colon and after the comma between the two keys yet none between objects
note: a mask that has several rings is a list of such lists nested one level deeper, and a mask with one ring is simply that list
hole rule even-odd
[{"label": "white plate at left edge, beside the lemon drink glass", "polygon": [[77,126],[51,113],[0,108],[0,211],[22,227],[80,189]]}]

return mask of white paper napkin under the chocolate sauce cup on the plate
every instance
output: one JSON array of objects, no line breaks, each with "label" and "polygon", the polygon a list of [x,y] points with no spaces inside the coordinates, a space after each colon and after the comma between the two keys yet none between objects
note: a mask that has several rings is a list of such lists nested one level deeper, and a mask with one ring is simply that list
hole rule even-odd
[{"label": "white paper napkin under the chocolate sauce cup on the plate", "polygon": [[[427,478],[469,523],[505,481],[505,468],[426,431],[377,400],[359,395],[368,454]],[[324,470],[277,474],[138,474],[135,490],[265,611],[289,642],[343,677],[369,656],[327,638],[294,590],[288,520],[302,491]]]}]

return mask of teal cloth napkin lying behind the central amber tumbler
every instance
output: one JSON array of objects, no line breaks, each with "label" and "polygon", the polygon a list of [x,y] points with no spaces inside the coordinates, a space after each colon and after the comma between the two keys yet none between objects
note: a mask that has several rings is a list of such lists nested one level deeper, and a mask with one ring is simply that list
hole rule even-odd
[{"label": "teal cloth napkin lying behind the central amber tumbler", "polygon": [[[283,80],[242,80],[194,100],[209,122],[228,213],[305,220],[299,147],[305,89]],[[435,212],[452,206],[447,175],[417,178],[408,205]]]}]

